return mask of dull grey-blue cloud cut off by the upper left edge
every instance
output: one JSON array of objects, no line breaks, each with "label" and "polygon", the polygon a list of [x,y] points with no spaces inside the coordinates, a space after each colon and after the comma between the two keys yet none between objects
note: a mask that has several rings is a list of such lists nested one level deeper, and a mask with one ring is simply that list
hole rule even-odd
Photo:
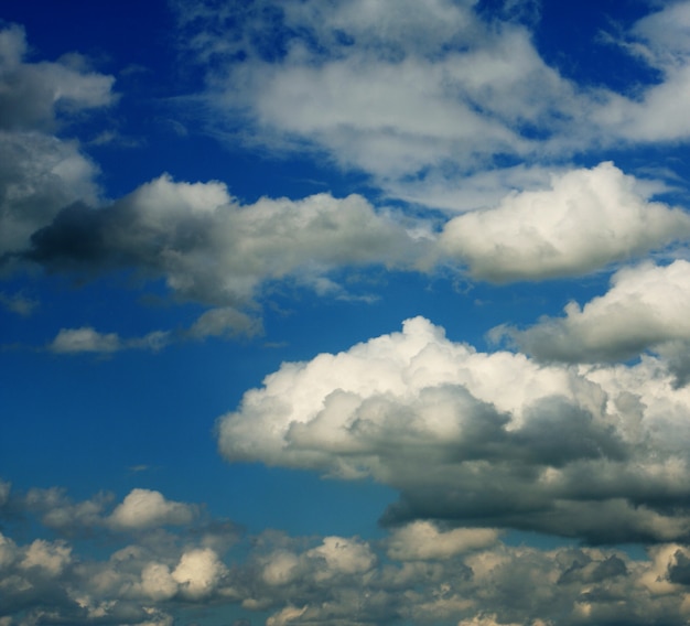
[{"label": "dull grey-blue cloud cut off by the upper left edge", "polygon": [[64,206],[97,199],[97,168],[77,141],[48,131],[71,111],[114,99],[111,76],[85,71],[68,57],[26,63],[25,53],[23,29],[0,30],[0,259],[25,249],[30,236]]}]

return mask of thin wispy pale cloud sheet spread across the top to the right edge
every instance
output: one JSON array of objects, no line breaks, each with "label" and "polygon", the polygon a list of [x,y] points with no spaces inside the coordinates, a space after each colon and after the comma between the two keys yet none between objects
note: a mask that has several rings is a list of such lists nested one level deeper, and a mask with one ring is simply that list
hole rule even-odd
[{"label": "thin wispy pale cloud sheet spread across the top to the right edge", "polygon": [[[181,45],[206,73],[218,134],[311,147],[396,197],[476,208],[484,198],[474,176],[500,172],[506,156],[509,173],[498,177],[524,190],[535,168],[573,153],[688,137],[688,2],[591,42],[638,64],[630,93],[565,78],[526,23],[509,10],[489,20],[476,2],[175,6]],[[650,68],[660,80],[644,83]],[[238,116],[249,129],[233,126]],[[518,161],[529,166],[516,170]]]}]

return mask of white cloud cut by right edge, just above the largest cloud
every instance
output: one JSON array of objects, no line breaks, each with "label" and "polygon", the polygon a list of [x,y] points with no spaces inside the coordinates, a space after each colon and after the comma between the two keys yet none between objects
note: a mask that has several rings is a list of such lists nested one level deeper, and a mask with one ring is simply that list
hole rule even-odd
[{"label": "white cloud cut by right edge, just above the largest cloud", "polygon": [[[524,349],[542,359],[597,361],[628,358],[668,342],[690,341],[690,263],[647,262],[624,268],[611,289],[564,317],[547,317],[525,331],[503,327]],[[684,345],[684,344],[683,344]]]}]

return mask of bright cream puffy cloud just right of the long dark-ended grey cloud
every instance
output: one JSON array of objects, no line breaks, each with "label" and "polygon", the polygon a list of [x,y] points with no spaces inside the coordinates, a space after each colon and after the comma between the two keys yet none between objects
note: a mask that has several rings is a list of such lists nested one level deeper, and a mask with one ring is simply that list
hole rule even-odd
[{"label": "bright cream puffy cloud just right of the long dark-ended grey cloud", "polygon": [[451,219],[439,247],[472,276],[506,282],[586,273],[689,235],[689,214],[648,202],[634,177],[602,163]]}]

